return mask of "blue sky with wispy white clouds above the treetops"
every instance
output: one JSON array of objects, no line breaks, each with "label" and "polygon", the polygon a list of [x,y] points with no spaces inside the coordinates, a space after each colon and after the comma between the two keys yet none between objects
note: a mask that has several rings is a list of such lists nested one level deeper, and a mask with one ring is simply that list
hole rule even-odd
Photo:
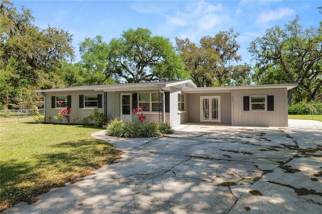
[{"label": "blue sky with wispy white clouds above the treetops", "polygon": [[321,1],[12,1],[18,9],[33,12],[35,25],[48,24],[73,34],[76,61],[81,60],[78,44],[102,35],[105,42],[119,38],[129,28],[148,28],[153,35],[189,38],[198,43],[203,36],[233,28],[240,35],[240,64],[251,63],[247,48],[276,25],[284,26],[295,16],[303,29],[317,28],[322,15]]}]

